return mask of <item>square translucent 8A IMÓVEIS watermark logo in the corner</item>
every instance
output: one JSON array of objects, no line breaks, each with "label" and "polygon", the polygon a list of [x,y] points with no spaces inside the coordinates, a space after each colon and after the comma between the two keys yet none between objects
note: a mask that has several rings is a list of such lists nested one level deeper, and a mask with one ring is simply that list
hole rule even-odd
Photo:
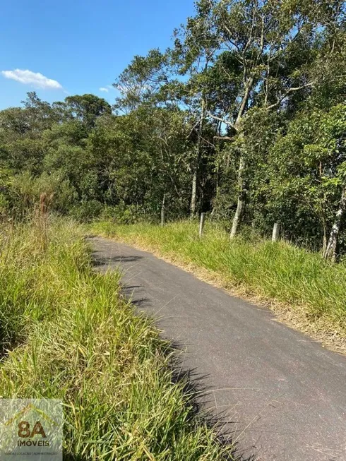
[{"label": "square translucent 8A IM\u00d3VEIS watermark logo in the corner", "polygon": [[0,399],[0,460],[62,461],[61,400]]}]

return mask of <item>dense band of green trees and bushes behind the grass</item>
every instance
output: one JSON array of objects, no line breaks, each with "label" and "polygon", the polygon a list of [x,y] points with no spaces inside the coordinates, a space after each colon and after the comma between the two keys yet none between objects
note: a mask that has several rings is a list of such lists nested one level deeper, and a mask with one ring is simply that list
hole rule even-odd
[{"label": "dense band of green trees and bushes behind the grass", "polygon": [[199,0],[166,52],[114,85],[0,112],[0,210],[79,218],[210,212],[232,237],[281,222],[335,258],[345,247],[345,1]]}]

